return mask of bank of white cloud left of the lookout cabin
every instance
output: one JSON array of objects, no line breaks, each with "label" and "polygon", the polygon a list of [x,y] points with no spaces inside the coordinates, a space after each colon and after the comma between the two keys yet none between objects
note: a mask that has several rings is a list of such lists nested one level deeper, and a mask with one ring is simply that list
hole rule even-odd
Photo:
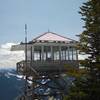
[{"label": "bank of white cloud left of the lookout cabin", "polygon": [[0,69],[15,68],[16,63],[24,59],[24,51],[10,51],[15,43],[0,45]]}]

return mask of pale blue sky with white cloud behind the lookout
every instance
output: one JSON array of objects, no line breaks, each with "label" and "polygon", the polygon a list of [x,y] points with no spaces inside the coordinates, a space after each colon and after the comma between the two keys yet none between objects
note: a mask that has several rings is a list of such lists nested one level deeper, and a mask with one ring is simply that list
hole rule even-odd
[{"label": "pale blue sky with white cloud behind the lookout", "polygon": [[12,52],[13,44],[47,32],[68,38],[83,31],[79,7],[85,0],[0,0],[0,67],[15,66],[24,59],[23,52]]}]

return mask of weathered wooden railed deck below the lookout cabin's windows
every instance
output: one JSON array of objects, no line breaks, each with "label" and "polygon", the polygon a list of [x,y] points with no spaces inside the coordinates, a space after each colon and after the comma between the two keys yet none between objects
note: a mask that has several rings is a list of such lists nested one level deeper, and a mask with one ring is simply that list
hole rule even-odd
[{"label": "weathered wooden railed deck below the lookout cabin's windows", "polygon": [[63,73],[69,68],[78,68],[77,61],[21,61],[17,63],[17,71],[26,74],[26,70],[34,73]]}]

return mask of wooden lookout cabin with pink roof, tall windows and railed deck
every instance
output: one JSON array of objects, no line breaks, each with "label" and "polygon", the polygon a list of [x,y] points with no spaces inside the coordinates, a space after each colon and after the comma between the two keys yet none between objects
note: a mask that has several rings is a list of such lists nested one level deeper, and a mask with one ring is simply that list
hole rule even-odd
[{"label": "wooden lookout cabin with pink roof, tall windows and railed deck", "polygon": [[77,41],[73,39],[46,32],[27,44],[13,45],[11,50],[25,51],[25,45],[27,45],[27,60],[17,63],[17,71],[26,75],[27,79],[31,76],[32,80],[36,82],[37,79],[43,80],[44,78],[55,80],[55,77],[59,78],[69,68],[78,68],[76,44]]}]

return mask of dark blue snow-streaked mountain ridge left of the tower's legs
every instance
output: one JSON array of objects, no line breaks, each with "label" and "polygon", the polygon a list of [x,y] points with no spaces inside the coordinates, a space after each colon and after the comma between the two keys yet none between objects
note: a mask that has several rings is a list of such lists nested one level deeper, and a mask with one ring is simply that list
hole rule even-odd
[{"label": "dark blue snow-streaked mountain ridge left of the tower's legs", "polygon": [[21,93],[23,84],[14,69],[0,69],[0,100],[14,100]]}]

